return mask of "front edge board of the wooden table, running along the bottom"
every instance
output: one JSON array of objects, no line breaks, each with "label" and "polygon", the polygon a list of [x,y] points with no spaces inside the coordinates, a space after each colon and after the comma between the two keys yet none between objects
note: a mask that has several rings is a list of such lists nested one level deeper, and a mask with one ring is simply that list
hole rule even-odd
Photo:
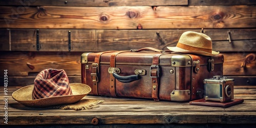
[{"label": "front edge board of the wooden table, running along the bottom", "polygon": [[[15,114],[15,115],[13,115]],[[254,123],[255,112],[119,112],[119,113],[90,113],[90,112],[49,112],[38,115],[38,112],[11,113],[8,117],[10,124],[92,124],[94,117],[100,124],[172,124],[172,123]],[[225,115],[224,115],[225,114]],[[33,117],[33,118],[31,118]],[[249,118],[248,118],[249,117]]]}]

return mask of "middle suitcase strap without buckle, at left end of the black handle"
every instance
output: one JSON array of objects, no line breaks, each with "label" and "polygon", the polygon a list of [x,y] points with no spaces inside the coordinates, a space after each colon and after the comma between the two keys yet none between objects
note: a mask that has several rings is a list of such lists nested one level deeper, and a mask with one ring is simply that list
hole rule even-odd
[{"label": "middle suitcase strap without buckle, at left end of the black handle", "polygon": [[[123,52],[130,52],[130,51],[118,51],[118,52],[114,52],[111,56],[110,56],[110,67],[111,68],[115,68],[116,67],[116,56],[119,53],[123,53]],[[115,84],[115,77],[113,76],[113,74],[110,74],[110,94],[112,97],[117,97],[116,96],[116,84]]]}]

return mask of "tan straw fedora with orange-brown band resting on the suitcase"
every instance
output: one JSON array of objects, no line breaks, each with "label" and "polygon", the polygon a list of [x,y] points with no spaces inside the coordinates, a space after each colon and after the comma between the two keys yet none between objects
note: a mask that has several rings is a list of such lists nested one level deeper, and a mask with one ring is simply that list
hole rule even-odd
[{"label": "tan straw fedora with orange-brown band resting on the suitcase", "polygon": [[170,51],[191,53],[213,56],[218,55],[219,52],[212,51],[212,42],[209,36],[198,33],[187,31],[184,32],[178,41],[176,47],[167,47]]}]

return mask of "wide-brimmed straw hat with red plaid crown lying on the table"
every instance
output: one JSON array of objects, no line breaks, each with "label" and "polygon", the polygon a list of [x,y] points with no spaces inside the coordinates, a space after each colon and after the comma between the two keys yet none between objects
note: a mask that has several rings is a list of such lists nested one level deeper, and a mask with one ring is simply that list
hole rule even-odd
[{"label": "wide-brimmed straw hat with red plaid crown lying on the table", "polygon": [[36,76],[33,85],[18,89],[12,97],[25,106],[44,108],[75,103],[90,92],[86,84],[69,83],[64,70],[46,69]]}]

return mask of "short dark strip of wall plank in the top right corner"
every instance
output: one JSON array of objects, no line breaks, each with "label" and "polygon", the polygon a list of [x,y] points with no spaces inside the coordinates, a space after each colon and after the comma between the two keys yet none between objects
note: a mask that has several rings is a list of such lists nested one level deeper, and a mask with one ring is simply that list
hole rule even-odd
[{"label": "short dark strip of wall plank in the top right corner", "polygon": [[240,1],[236,1],[236,0],[232,0],[232,1],[222,1],[222,0],[215,0],[215,1],[211,1],[211,0],[189,0],[188,4],[190,6],[205,6],[205,5],[256,5],[256,1],[250,1],[250,0],[240,0]]}]

